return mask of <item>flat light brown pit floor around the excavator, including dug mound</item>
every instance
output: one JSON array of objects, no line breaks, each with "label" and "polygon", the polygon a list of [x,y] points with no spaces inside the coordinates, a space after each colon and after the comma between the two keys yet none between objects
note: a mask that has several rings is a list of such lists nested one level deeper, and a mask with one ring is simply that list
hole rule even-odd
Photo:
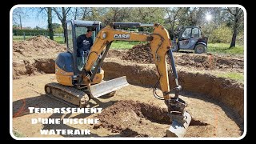
[{"label": "flat light brown pit floor around the excavator, including dug mound", "polygon": [[[25,137],[165,137],[170,122],[166,105],[156,100],[152,89],[125,86],[114,97],[93,98],[90,106],[102,107],[101,114],[30,114],[28,107],[68,107],[45,95],[46,83],[56,82],[54,74],[43,74],[13,81],[13,128]],[[238,138],[243,133],[243,121],[234,110],[215,102],[206,95],[182,93],[188,103],[186,110],[193,120],[185,137]],[[31,124],[31,118],[100,118],[102,125]],[[26,125],[25,125],[26,123]],[[29,129],[28,129],[29,127]],[[39,130],[83,130],[90,135],[41,135]]]}]

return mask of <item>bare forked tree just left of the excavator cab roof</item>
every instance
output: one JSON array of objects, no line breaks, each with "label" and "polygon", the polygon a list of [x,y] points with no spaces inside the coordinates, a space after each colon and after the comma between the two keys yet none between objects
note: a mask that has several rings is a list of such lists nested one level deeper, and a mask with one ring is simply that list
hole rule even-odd
[{"label": "bare forked tree just left of the excavator cab roof", "polygon": [[63,34],[66,42],[66,17],[70,12],[71,7],[62,7],[61,10],[54,7],[54,12],[57,14],[58,19],[62,22]]}]

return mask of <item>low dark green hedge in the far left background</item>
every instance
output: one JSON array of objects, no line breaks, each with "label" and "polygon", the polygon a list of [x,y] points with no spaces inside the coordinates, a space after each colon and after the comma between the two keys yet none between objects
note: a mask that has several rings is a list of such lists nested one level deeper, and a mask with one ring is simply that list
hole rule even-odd
[{"label": "low dark green hedge in the far left background", "polygon": [[14,35],[48,35],[48,30],[13,30]]}]

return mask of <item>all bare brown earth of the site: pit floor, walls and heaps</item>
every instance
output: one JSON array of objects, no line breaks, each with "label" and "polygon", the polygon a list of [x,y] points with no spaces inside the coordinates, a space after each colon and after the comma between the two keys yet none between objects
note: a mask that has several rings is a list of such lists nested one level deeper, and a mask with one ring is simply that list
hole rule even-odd
[{"label": "all bare brown earth of the site: pit floor, walls and heaps", "polygon": [[[100,114],[30,114],[28,107],[66,107],[48,98],[44,85],[56,82],[54,60],[65,46],[45,37],[13,42],[13,130],[24,137],[166,137],[170,126],[164,102],[154,98],[158,81],[148,45],[130,50],[110,50],[102,66],[105,79],[126,76],[130,86],[117,90],[114,97],[90,100],[102,107]],[[242,56],[174,53],[186,110],[192,121],[185,137],[238,138],[244,132],[244,85],[215,74],[243,74]],[[174,86],[169,73],[170,86]],[[158,92],[160,94],[160,92]],[[30,124],[31,118],[99,118],[94,125]],[[26,125],[24,125],[26,123]],[[30,129],[28,129],[30,127]],[[40,129],[90,129],[90,135],[41,135]]]}]

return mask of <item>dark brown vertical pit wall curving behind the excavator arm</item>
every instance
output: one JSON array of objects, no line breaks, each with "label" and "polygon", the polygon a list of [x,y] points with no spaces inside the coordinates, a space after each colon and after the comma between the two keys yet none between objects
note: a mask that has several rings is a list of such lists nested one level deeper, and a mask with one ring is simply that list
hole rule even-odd
[{"label": "dark brown vertical pit wall curving behind the excavator arm", "polygon": [[[134,85],[153,87],[158,81],[154,64],[136,64],[116,58],[106,58],[102,69],[105,70],[106,78],[126,76],[127,81]],[[171,78],[170,86],[174,87],[174,77],[171,73],[169,73],[169,77]],[[182,90],[206,94],[209,98],[214,98],[218,102],[230,106],[243,117],[244,85],[242,83],[226,78],[217,78],[211,74],[194,73],[190,70],[179,70],[178,78]]]}]

